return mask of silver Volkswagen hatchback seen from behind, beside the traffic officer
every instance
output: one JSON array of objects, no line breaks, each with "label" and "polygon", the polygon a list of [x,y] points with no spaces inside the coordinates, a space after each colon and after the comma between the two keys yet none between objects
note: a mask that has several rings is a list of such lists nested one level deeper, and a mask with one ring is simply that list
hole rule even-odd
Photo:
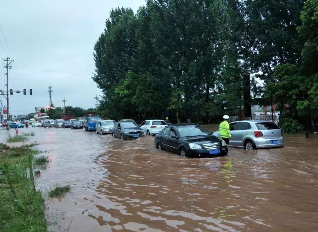
[{"label": "silver Volkswagen hatchback seen from behind, beside the traffic officer", "polygon": [[[284,147],[281,129],[271,121],[245,120],[230,123],[229,146],[253,150]],[[220,137],[220,132],[213,135]]]}]

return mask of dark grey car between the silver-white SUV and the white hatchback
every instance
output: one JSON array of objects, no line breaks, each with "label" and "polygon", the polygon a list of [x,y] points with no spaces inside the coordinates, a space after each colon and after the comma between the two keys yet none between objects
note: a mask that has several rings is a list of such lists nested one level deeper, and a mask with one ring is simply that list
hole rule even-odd
[{"label": "dark grey car between the silver-white SUV and the white hatchback", "polygon": [[142,128],[135,122],[117,122],[113,127],[113,137],[122,139],[136,139],[143,135]]}]

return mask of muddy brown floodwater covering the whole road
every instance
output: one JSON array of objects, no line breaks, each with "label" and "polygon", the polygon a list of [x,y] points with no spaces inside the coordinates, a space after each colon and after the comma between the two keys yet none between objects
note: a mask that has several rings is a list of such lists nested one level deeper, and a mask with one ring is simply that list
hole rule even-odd
[{"label": "muddy brown floodwater covering the whole road", "polygon": [[[37,183],[55,231],[318,231],[317,135],[191,159],[155,149],[153,136],[20,131],[34,131],[29,141],[51,159]],[[71,192],[48,198],[58,184]]]}]

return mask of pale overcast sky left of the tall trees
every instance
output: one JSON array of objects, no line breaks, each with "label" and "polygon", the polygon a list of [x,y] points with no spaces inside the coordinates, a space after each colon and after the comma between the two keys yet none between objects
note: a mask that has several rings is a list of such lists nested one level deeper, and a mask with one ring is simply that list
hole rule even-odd
[{"label": "pale overcast sky left of the tall trees", "polygon": [[[62,106],[94,107],[94,96],[101,92],[92,80],[93,46],[105,27],[109,12],[116,7],[131,7],[136,12],[145,0],[48,1],[1,0],[0,54],[12,58],[9,89],[32,89],[33,95],[9,95],[10,113],[35,111],[49,105],[47,87],[52,85],[52,102]],[[1,58],[1,72],[4,62]],[[3,73],[0,89],[3,90]],[[3,105],[6,101],[2,98]]]}]

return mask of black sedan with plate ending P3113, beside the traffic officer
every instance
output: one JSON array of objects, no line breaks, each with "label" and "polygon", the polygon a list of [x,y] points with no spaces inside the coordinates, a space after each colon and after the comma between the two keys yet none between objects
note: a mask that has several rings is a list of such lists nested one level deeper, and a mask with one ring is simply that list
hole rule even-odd
[{"label": "black sedan with plate ending P3113, beside the traffic officer", "polygon": [[197,124],[173,124],[155,137],[157,149],[185,157],[225,156],[227,145],[211,132]]}]

